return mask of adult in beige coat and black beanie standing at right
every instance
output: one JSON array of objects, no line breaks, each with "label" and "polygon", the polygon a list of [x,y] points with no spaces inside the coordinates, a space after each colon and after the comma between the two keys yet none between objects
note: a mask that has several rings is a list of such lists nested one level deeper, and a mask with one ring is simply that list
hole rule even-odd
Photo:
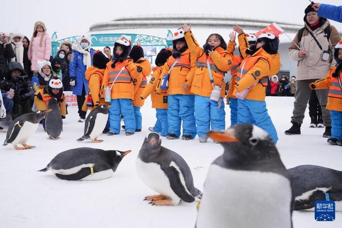
[{"label": "adult in beige coat and black beanie standing at right", "polygon": [[[325,18],[320,18],[311,5],[305,9],[305,25],[299,30],[289,47],[289,56],[298,62],[296,75],[296,94],[291,117],[292,127],[285,131],[287,135],[300,134],[304,113],[310,98],[309,84],[324,78],[333,63],[334,46],[341,40],[336,28]],[[316,91],[321,104],[325,126],[323,137],[331,135],[329,111],[325,109],[328,89]]]}]

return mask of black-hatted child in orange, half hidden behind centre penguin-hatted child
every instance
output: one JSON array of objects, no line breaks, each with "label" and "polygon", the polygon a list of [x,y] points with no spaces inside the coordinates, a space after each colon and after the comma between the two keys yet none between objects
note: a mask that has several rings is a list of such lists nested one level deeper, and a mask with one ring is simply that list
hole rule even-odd
[{"label": "black-hatted child in orange, half hidden behind centre penguin-hatted child", "polygon": [[149,127],[149,130],[158,132],[162,136],[167,136],[169,128],[168,91],[160,91],[159,94],[155,93],[154,91],[161,83],[161,73],[163,71],[164,64],[171,55],[172,51],[169,48],[163,48],[160,50],[155,59],[156,67],[153,68],[151,80],[141,94],[141,99],[146,99],[149,95],[151,95],[152,108],[155,108],[156,110],[157,121],[155,122],[153,127]]}]

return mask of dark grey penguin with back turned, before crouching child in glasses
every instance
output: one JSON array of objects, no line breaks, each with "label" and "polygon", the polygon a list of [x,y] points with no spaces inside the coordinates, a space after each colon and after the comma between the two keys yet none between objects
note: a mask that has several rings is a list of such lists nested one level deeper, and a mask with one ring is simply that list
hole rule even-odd
[{"label": "dark grey penguin with back turned, before crouching child in glasses", "polygon": [[46,115],[45,129],[49,136],[48,139],[59,139],[61,132],[63,131],[63,121],[62,114],[57,100],[51,98],[47,104],[47,109],[52,109],[52,111]]}]

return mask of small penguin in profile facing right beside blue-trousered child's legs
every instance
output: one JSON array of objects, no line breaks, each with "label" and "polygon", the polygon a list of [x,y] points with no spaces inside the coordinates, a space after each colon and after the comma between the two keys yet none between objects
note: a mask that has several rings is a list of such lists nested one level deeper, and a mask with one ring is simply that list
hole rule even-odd
[{"label": "small penguin in profile facing right beside blue-trousered child's legs", "polygon": [[94,108],[85,120],[85,133],[77,141],[90,138],[94,143],[101,143],[102,139],[97,139],[105,129],[108,120],[108,108],[110,105],[102,104]]}]

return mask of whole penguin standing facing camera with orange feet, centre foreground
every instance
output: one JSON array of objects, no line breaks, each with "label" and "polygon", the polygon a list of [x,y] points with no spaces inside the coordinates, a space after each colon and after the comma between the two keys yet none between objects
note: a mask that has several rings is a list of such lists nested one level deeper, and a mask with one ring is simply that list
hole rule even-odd
[{"label": "whole penguin standing facing camera with orange feet, centre foreground", "polygon": [[152,205],[178,205],[201,199],[202,192],[193,186],[188,164],[177,153],[161,146],[161,137],[152,132],[144,139],[137,160],[139,178],[160,195],[147,196]]}]

